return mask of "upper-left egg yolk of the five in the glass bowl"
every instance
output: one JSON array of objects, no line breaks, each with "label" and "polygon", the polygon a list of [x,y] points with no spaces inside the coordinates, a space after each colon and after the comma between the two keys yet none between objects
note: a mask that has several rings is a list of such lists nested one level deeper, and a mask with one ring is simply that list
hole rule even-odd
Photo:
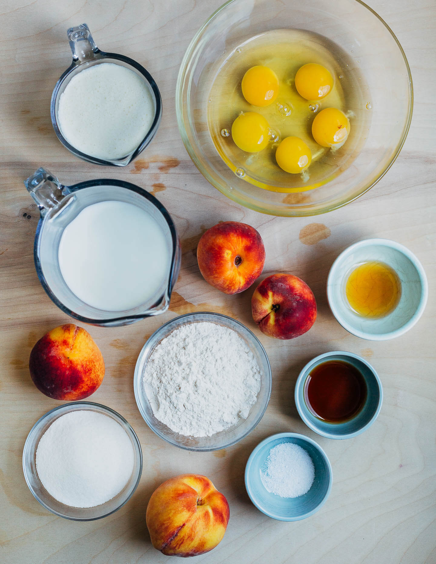
[{"label": "upper-left egg yolk of the five in the glass bowl", "polygon": [[241,83],[245,100],[252,105],[270,105],[279,94],[279,79],[274,70],[257,65],[247,70]]}]

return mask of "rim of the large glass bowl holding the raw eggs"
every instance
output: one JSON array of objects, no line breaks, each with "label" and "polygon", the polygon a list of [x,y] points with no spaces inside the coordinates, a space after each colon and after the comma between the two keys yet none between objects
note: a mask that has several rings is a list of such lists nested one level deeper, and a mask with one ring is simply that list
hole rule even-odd
[{"label": "rim of the large glass bowl holding the raw eggs", "polygon": [[347,204],[350,204],[351,202],[357,200],[365,192],[367,192],[368,190],[371,190],[371,188],[373,186],[375,186],[375,184],[377,184],[377,182],[384,177],[384,175],[387,173],[387,171],[394,164],[395,160],[397,160],[397,157],[398,157],[401,149],[403,148],[404,142],[406,142],[406,138],[407,138],[407,134],[408,134],[411,122],[412,122],[412,114],[413,114],[413,82],[412,82],[412,73],[411,73],[411,70],[410,70],[410,67],[409,67],[409,63],[408,63],[406,54],[404,53],[403,47],[401,46],[400,42],[398,41],[397,37],[395,36],[393,30],[391,30],[389,25],[387,25],[385,20],[382,19],[382,17],[379,16],[377,14],[377,12],[375,12],[371,7],[369,7],[367,4],[362,2],[362,0],[351,0],[351,1],[354,1],[358,4],[360,4],[363,8],[367,8],[367,10],[369,12],[371,12],[374,16],[377,17],[377,19],[380,21],[380,23],[382,25],[384,25],[384,27],[387,29],[387,31],[391,34],[392,38],[394,39],[395,43],[397,44],[397,47],[400,51],[400,54],[402,55],[404,65],[405,65],[406,71],[407,71],[408,84],[409,84],[409,89],[408,89],[408,94],[409,94],[408,113],[407,113],[407,119],[404,122],[402,135],[400,136],[400,139],[397,143],[397,146],[393,149],[392,156],[390,158],[390,162],[389,162],[389,164],[387,164],[386,168],[384,170],[382,170],[382,172],[380,174],[378,174],[376,177],[371,177],[369,180],[367,180],[367,182],[364,184],[362,190],[360,190],[360,192],[358,194],[354,195],[350,199],[347,199],[347,200],[342,199],[340,202],[337,202],[336,204],[329,206],[327,209],[324,209],[324,208],[319,209],[319,210],[294,210],[294,209],[292,209],[292,213],[287,213],[286,209],[285,210],[280,210],[280,209],[265,210],[260,205],[251,204],[249,202],[246,202],[242,198],[238,197],[235,194],[234,190],[227,190],[226,188],[222,187],[219,182],[215,182],[214,178],[208,173],[208,171],[202,165],[200,158],[197,158],[197,155],[196,155],[196,153],[195,153],[195,151],[194,151],[194,149],[193,149],[193,147],[190,143],[190,140],[188,139],[188,135],[186,134],[186,128],[184,126],[184,121],[183,121],[184,104],[183,104],[182,92],[183,92],[183,86],[184,86],[184,82],[185,82],[184,78],[186,77],[186,73],[187,73],[189,63],[192,59],[193,52],[195,51],[196,42],[200,38],[201,34],[204,32],[205,28],[208,26],[209,22],[217,14],[219,14],[219,12],[224,10],[224,8],[226,8],[231,3],[241,2],[241,1],[242,0],[228,0],[222,6],[217,8],[217,10],[215,10],[212,15],[210,15],[208,17],[208,19],[205,21],[205,23],[200,27],[200,29],[197,31],[197,33],[191,39],[191,42],[189,43],[189,45],[188,45],[188,47],[187,47],[187,49],[186,49],[186,51],[183,55],[182,63],[180,63],[179,72],[178,72],[178,75],[177,75],[177,83],[176,83],[176,87],[175,87],[175,113],[176,113],[176,117],[177,117],[177,125],[178,125],[178,128],[179,128],[179,133],[180,133],[180,136],[182,138],[182,142],[183,142],[183,144],[186,148],[188,155],[191,157],[193,164],[195,164],[196,168],[200,171],[202,176],[210,184],[212,184],[212,186],[214,188],[217,188],[217,190],[219,192],[221,192],[224,196],[228,197],[230,200],[235,201],[237,204],[244,206],[244,208],[252,209],[254,211],[258,211],[259,213],[263,213],[263,214],[266,214],[266,215],[274,215],[275,217],[280,217],[280,216],[281,217],[312,217],[312,216],[315,216],[315,215],[321,215],[323,213],[328,213],[329,211],[333,211],[335,209],[342,208],[343,206],[345,206]]}]

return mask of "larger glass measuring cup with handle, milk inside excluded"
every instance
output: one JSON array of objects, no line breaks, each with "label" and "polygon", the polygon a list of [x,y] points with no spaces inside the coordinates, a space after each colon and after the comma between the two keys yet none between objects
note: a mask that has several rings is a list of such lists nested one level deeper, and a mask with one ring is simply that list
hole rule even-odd
[{"label": "larger glass measuring cup with handle, milk inside excluded", "polygon": [[[168,310],[180,270],[180,242],[168,211],[154,196],[124,180],[97,179],[64,186],[49,171],[39,168],[24,182],[36,201],[38,222],[34,261],[39,281],[52,301],[71,317],[104,327],[128,325]],[[125,311],[104,311],[78,298],[65,283],[59,266],[59,243],[65,227],[87,206],[103,201],[127,202],[146,211],[161,227],[171,261],[168,277],[144,303]],[[126,288],[128,291],[128,288]]]}]

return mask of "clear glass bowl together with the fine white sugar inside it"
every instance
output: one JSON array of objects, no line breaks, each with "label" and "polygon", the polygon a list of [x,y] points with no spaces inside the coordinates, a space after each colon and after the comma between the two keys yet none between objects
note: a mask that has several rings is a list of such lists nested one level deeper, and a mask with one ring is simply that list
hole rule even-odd
[{"label": "clear glass bowl together with the fine white sugar inside it", "polygon": [[71,402],[33,425],[24,444],[23,472],[46,509],[73,521],[94,521],[133,495],[142,451],[119,413],[98,403]]}]

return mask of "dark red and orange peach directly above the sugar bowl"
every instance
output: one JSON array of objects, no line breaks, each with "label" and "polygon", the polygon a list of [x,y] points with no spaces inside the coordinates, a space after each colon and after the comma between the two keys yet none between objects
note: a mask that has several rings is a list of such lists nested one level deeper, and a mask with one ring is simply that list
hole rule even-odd
[{"label": "dark red and orange peach directly above the sugar bowl", "polygon": [[30,376],[53,399],[78,400],[102,383],[104,362],[90,334],[72,323],[46,333],[30,352]]}]

